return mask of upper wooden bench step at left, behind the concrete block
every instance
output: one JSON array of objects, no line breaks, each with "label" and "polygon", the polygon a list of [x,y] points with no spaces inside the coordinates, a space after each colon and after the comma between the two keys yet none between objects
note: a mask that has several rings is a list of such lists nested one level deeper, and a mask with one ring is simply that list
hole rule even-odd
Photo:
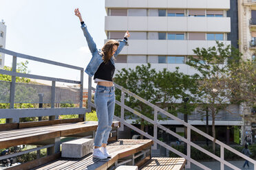
[{"label": "upper wooden bench step at left, behind the concrete block", "polygon": [[[112,124],[114,127],[118,127],[119,125],[120,123],[118,121],[114,121]],[[44,141],[50,138],[92,132],[96,131],[97,127],[97,121],[86,121],[1,131],[0,149],[30,143],[39,144],[39,141]]]}]

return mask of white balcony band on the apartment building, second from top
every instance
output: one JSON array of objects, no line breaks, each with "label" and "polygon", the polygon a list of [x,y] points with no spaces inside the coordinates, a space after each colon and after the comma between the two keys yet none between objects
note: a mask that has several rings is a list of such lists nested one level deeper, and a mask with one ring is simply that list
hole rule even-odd
[{"label": "white balcony band on the apartment building, second from top", "polygon": [[231,32],[229,17],[105,16],[106,31]]}]

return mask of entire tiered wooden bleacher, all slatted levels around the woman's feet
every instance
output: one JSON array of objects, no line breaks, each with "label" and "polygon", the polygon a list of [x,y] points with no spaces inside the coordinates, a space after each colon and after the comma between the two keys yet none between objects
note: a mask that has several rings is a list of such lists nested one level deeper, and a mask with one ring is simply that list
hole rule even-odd
[{"label": "entire tiered wooden bleacher, all slatted levels around the woman's feet", "polygon": [[[113,130],[117,130],[120,123],[115,121]],[[9,123],[0,125],[0,149],[16,145],[49,145],[54,139],[61,137],[93,138],[97,129],[97,122],[82,119],[54,120],[29,123]],[[113,131],[112,130],[112,131]],[[117,133],[116,133],[117,134]],[[118,136],[109,137],[107,149],[112,158],[98,160],[88,154],[80,159],[61,158],[61,152],[49,149],[50,154],[10,167],[11,170],[20,169],[116,169],[119,165],[136,165],[139,169],[184,169],[184,158],[151,158],[151,140],[119,139]],[[54,143],[61,145],[61,143]]]}]

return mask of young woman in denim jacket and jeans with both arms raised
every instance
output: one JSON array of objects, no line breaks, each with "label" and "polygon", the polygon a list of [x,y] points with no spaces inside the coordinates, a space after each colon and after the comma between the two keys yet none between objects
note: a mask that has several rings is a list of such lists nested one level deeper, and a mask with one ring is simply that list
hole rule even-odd
[{"label": "young woman in denim jacket and jeans with both arms raised", "polygon": [[115,88],[112,82],[112,77],[115,71],[114,58],[120,53],[125,45],[128,45],[127,40],[130,34],[127,31],[123,40],[119,40],[119,42],[116,40],[108,40],[102,49],[97,49],[78,8],[75,9],[74,12],[81,21],[83,34],[87,40],[89,50],[92,52],[92,59],[87,65],[85,73],[90,77],[94,75],[94,82],[98,84],[94,95],[94,103],[98,117],[98,128],[94,138],[93,157],[106,159],[111,157],[107,152],[106,146],[109,133],[112,129],[111,125],[115,108]]}]

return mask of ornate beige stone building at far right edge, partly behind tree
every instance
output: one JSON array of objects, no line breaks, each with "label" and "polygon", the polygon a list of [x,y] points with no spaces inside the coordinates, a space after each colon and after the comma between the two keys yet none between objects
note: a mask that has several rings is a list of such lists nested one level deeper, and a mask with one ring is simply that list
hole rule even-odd
[{"label": "ornate beige stone building at far right edge, partly behind tree", "polygon": [[[237,0],[239,16],[239,51],[244,60],[253,60],[256,55],[256,1]],[[244,133],[256,142],[256,110],[244,109]]]}]

